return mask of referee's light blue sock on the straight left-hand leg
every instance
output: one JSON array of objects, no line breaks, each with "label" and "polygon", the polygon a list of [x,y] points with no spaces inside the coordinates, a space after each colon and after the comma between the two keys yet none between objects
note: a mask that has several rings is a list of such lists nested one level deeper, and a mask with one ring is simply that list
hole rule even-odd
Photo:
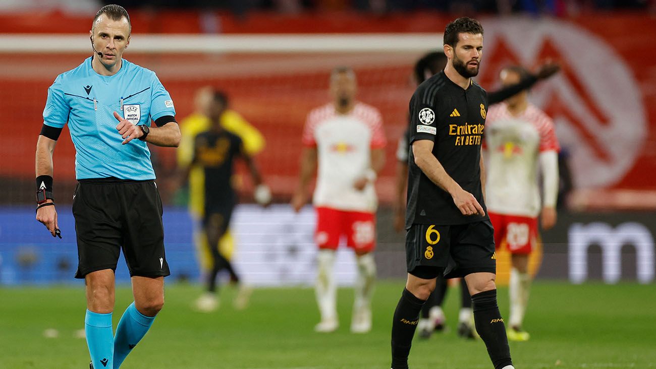
[{"label": "referee's light blue sock on the straight left-hand leg", "polygon": [[114,357],[112,313],[100,314],[87,310],[84,331],[91,362],[96,369],[112,368]]}]

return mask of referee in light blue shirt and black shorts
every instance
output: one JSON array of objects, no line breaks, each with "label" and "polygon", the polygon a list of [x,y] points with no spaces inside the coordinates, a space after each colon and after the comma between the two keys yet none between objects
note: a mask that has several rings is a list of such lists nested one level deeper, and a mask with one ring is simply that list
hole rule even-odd
[{"label": "referee in light blue shirt and black shorts", "polygon": [[[153,71],[122,58],[130,17],[107,5],[93,18],[93,54],[48,89],[36,153],[37,220],[59,235],[52,196],[52,153],[68,122],[75,145],[73,216],[85,279],[85,333],[91,368],[119,368],[164,304],[162,206],[148,145],[176,147],[180,130],[169,92]],[[150,128],[151,120],[157,127]],[[61,236],[60,236],[61,237]],[[112,333],[114,271],[123,249],[134,302]]]}]

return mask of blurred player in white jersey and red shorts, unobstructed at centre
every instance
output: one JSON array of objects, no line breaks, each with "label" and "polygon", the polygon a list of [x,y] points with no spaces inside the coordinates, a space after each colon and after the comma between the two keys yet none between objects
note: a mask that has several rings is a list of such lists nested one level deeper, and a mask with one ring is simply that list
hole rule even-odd
[{"label": "blurred player in white jersey and red shorts, unobstructed at centre", "polygon": [[337,329],[337,285],[333,275],[340,239],[356,252],[358,281],[351,332],[371,330],[371,295],[376,278],[374,182],[384,166],[386,139],[380,113],[356,100],[356,74],[335,68],[330,77],[333,102],[310,112],[303,132],[300,183],[292,199],[298,212],[308,200],[308,184],[318,163],[313,203],[319,246],[316,297],[321,313],[317,332]]}]

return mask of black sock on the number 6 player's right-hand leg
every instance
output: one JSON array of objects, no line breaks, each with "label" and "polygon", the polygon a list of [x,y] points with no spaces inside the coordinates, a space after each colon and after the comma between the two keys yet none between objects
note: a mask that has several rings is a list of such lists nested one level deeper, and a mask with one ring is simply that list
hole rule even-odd
[{"label": "black sock on the number 6 player's right-hand leg", "polygon": [[475,294],[472,296],[472,304],[474,305],[476,331],[485,342],[487,353],[495,369],[512,365],[506,327],[503,324],[499,306],[497,305],[497,290]]}]

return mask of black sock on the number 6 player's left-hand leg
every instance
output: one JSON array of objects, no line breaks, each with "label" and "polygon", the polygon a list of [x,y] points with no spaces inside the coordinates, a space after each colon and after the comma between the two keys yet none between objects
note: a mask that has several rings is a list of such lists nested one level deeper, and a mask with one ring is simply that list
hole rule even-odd
[{"label": "black sock on the number 6 player's left-hand leg", "polygon": [[[408,369],[412,338],[415,336],[417,322],[419,322],[419,311],[425,302],[403,288],[392,321],[392,369]],[[503,333],[505,337],[506,332]]]}]

